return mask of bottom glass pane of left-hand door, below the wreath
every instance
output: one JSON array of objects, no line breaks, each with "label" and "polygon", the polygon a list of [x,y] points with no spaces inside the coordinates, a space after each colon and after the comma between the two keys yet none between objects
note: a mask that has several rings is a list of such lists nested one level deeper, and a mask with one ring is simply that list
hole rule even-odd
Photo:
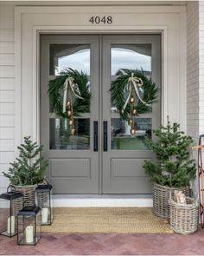
[{"label": "bottom glass pane of left-hand door, below the wreath", "polygon": [[67,119],[49,119],[50,149],[90,149],[90,119],[75,118],[73,123],[75,135],[72,136]]}]

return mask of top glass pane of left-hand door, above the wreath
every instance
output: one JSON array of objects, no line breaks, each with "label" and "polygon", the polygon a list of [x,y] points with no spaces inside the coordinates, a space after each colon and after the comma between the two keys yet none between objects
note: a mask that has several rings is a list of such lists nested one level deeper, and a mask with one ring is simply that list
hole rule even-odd
[{"label": "top glass pane of left-hand door, above the wreath", "polygon": [[90,75],[90,45],[51,44],[50,75],[59,75],[64,68],[77,69]]}]

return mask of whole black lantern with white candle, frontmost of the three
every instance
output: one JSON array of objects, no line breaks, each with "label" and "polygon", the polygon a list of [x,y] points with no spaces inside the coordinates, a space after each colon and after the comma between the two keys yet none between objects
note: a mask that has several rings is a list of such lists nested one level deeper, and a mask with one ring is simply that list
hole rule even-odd
[{"label": "whole black lantern with white candle, frontmost of the three", "polygon": [[22,207],[17,215],[17,244],[35,246],[40,239],[41,208],[36,206]]}]

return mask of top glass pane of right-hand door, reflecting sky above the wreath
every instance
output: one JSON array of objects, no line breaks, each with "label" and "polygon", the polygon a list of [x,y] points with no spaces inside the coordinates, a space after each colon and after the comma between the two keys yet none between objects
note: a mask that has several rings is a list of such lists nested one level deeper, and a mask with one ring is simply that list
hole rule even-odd
[{"label": "top glass pane of right-hand door, reflecting sky above the wreath", "polygon": [[119,69],[143,69],[151,73],[151,44],[112,45],[112,75]]}]

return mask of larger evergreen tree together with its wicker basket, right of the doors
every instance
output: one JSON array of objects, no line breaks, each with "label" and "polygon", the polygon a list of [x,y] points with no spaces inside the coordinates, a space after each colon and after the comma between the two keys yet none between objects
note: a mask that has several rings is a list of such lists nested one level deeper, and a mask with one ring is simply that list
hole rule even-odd
[{"label": "larger evergreen tree together with its wicker basket, right of the doors", "polygon": [[179,130],[180,125],[171,125],[153,130],[156,140],[147,140],[156,154],[155,161],[144,161],[145,173],[153,181],[153,212],[169,219],[169,193],[181,189],[189,193],[189,181],[196,174],[195,161],[189,158],[189,146],[193,139]]}]

